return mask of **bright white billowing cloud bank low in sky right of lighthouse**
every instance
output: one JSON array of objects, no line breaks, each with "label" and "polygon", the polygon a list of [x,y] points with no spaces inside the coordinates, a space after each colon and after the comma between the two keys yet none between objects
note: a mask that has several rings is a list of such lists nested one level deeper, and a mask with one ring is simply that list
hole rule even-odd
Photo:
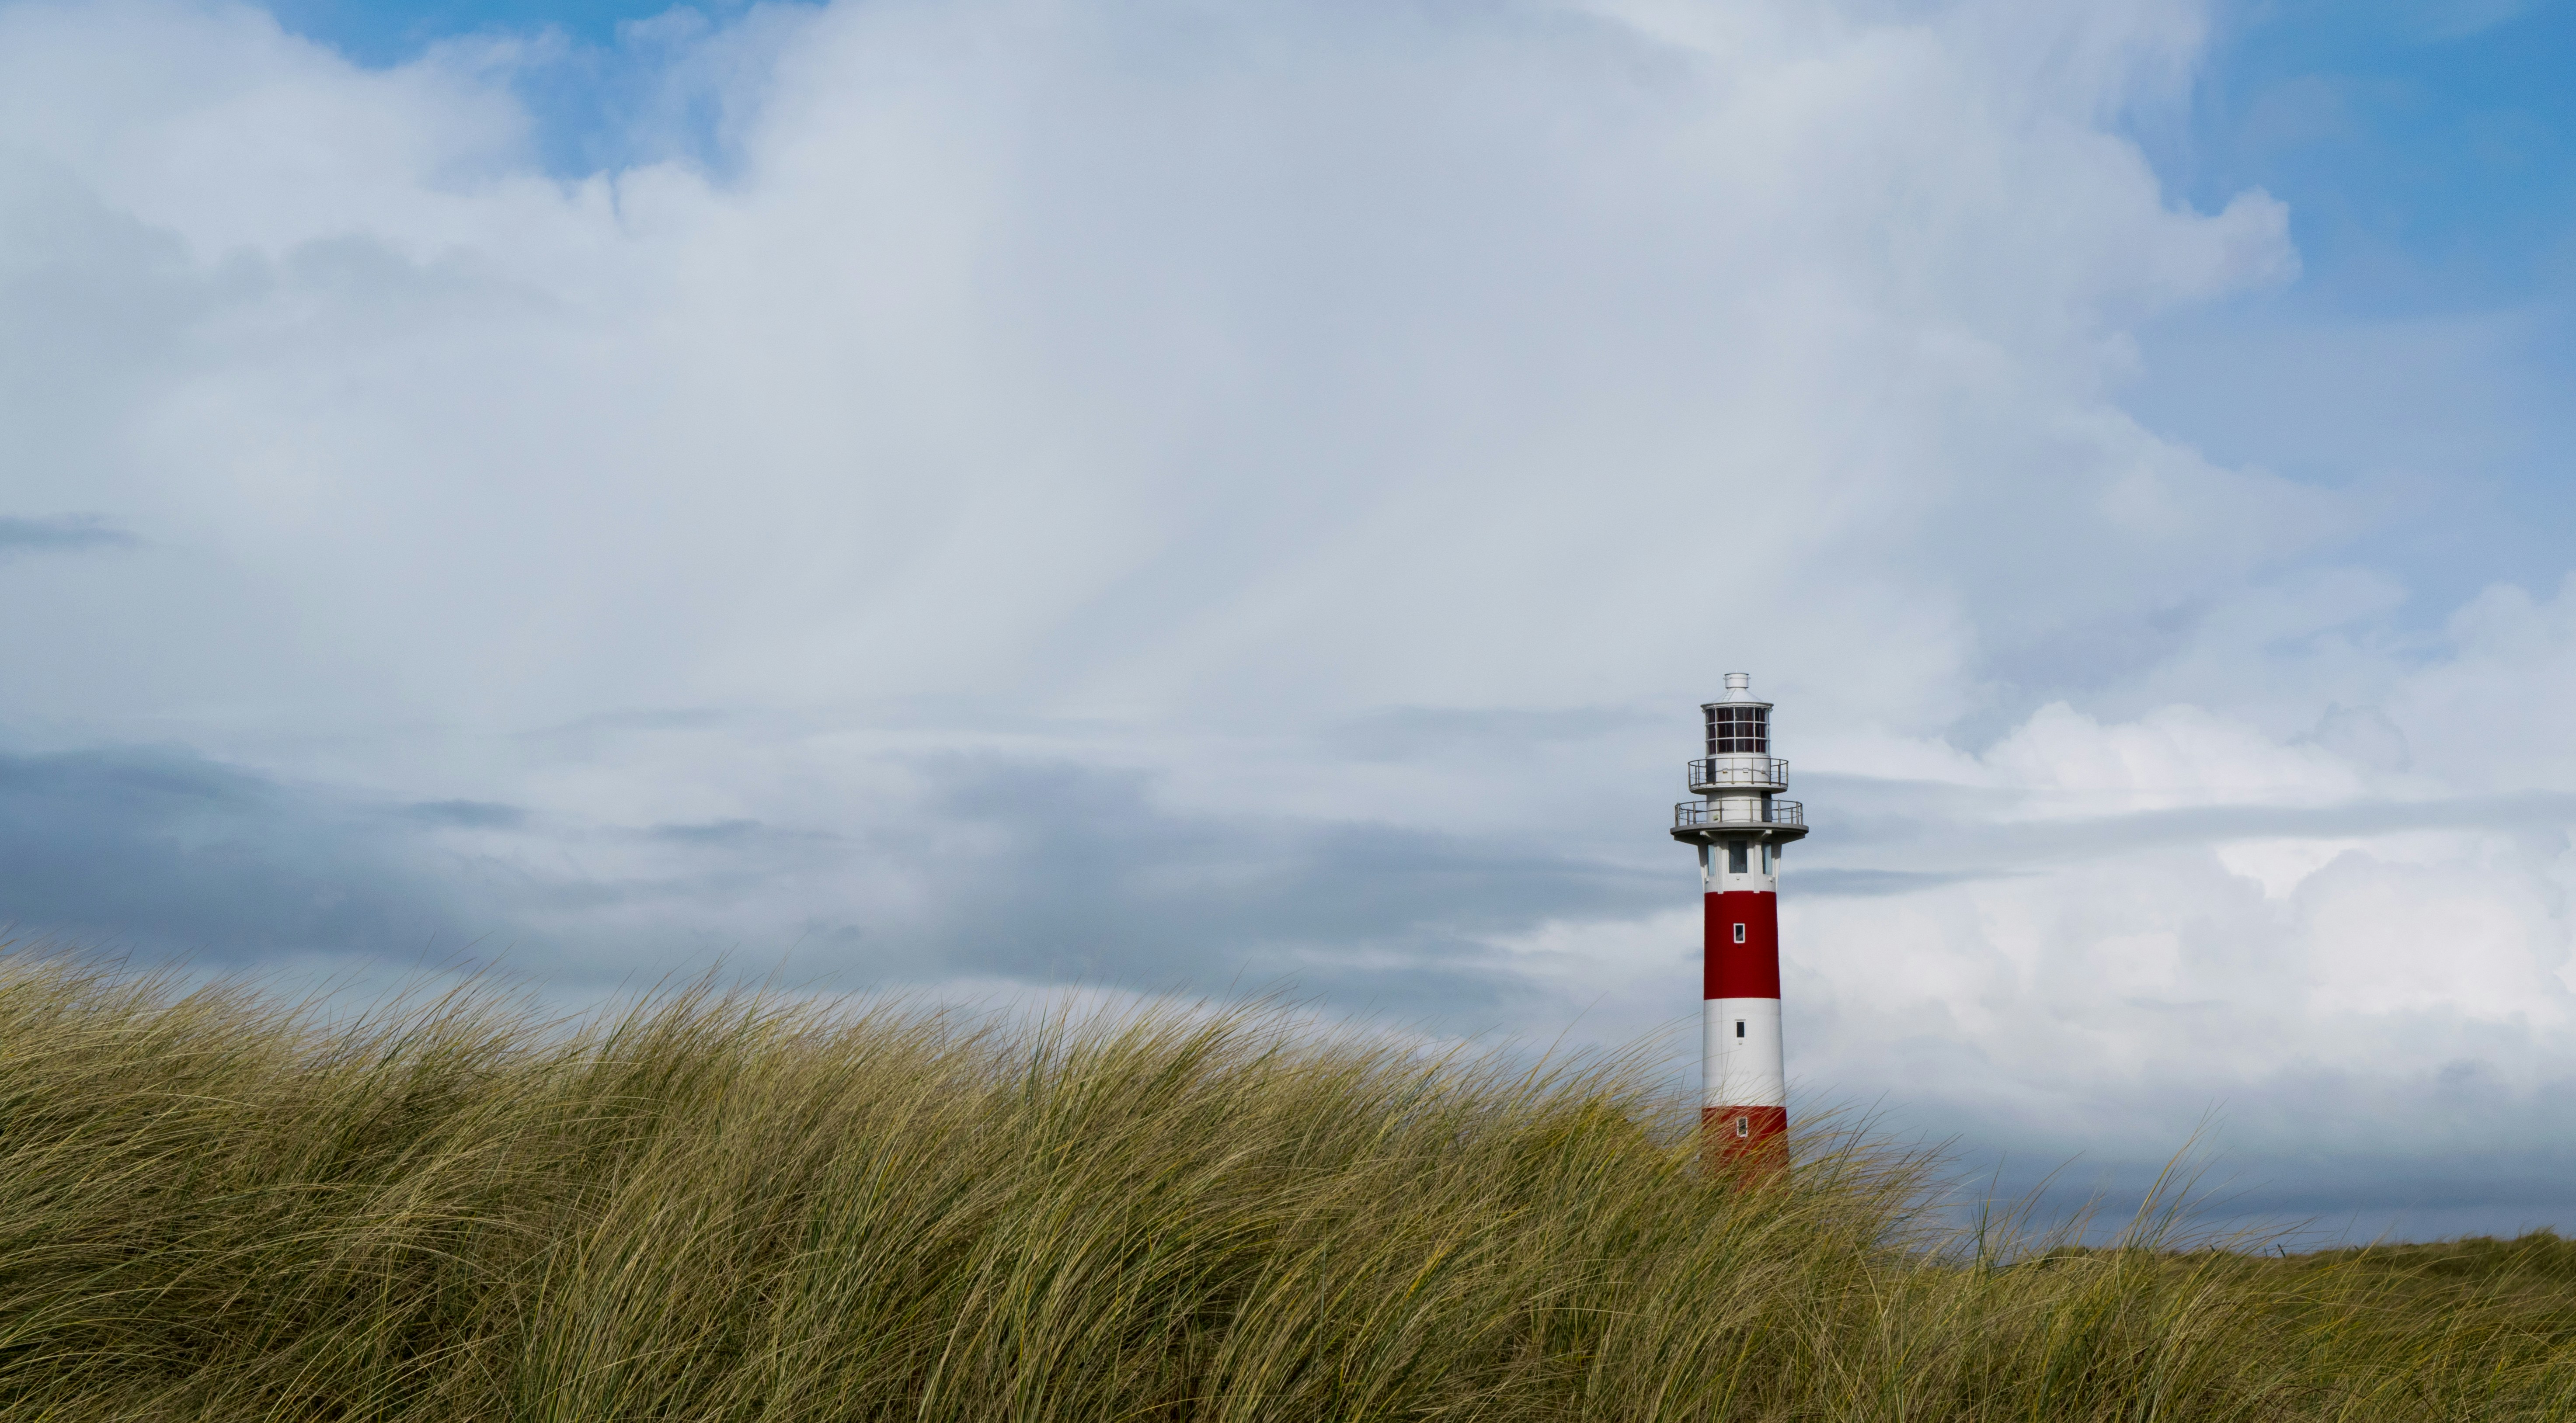
[{"label": "bright white billowing cloud bank low in sky right of lighthouse", "polygon": [[[2406,705],[2476,661],[2455,646],[2383,692]],[[2432,731],[2372,721],[2409,744]],[[2545,1143],[2576,1130],[2566,790],[2434,795],[2383,757],[2197,708],[2043,708],[1958,777],[1855,780],[1837,798],[1855,823],[1811,841],[1829,862],[1950,867],[1886,898],[1808,870],[1826,895],[1785,901],[1819,1091],[1909,1083],[1909,1122],[1978,1161],[2009,1153],[2020,1186],[2081,1143],[2081,1186],[2136,1194],[2200,1132],[2226,1212],[2262,1225],[2561,1217]],[[1873,787],[1911,813],[1873,818]],[[2468,1158],[2486,1176],[2463,1176]]]}]

